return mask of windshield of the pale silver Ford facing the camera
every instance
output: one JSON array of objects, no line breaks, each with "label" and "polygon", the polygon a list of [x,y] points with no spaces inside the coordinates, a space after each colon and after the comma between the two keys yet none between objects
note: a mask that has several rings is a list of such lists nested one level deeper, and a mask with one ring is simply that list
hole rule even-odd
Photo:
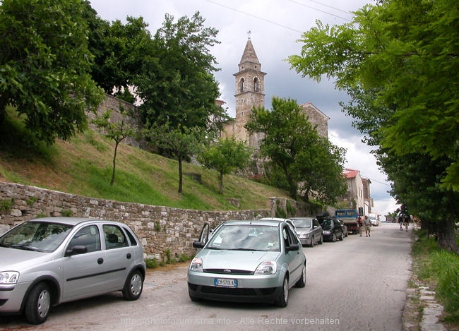
[{"label": "windshield of the pale silver Ford facing the camera", "polygon": [[278,227],[269,225],[222,225],[208,249],[230,251],[280,251]]}]

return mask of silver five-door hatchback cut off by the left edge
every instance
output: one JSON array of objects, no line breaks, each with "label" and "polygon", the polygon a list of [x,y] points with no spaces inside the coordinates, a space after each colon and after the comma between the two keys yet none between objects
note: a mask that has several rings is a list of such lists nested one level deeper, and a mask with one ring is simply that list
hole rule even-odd
[{"label": "silver five-door hatchback cut off by the left edge", "polygon": [[143,248],[126,224],[44,217],[0,236],[0,313],[25,313],[31,324],[58,303],[112,291],[136,300],[143,279]]}]

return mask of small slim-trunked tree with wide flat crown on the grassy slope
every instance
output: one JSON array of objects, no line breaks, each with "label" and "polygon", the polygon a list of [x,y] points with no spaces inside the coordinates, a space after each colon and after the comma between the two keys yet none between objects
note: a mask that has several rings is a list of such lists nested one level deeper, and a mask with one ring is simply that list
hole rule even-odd
[{"label": "small slim-trunked tree with wide flat crown on the grassy slope", "polygon": [[182,162],[187,157],[195,155],[201,148],[203,134],[198,128],[170,128],[168,124],[163,126],[150,126],[143,129],[143,136],[148,138],[155,147],[165,148],[179,162],[179,193],[182,193],[183,171]]}]

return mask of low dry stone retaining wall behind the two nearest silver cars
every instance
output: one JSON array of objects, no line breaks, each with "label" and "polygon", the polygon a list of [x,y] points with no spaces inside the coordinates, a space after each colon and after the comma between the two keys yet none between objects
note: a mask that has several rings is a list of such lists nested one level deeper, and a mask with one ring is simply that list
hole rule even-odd
[{"label": "low dry stone retaining wall behind the two nearest silver cars", "polygon": [[[271,202],[275,206],[276,203]],[[228,219],[258,219],[274,211],[229,210],[201,211],[172,207],[123,203],[81,195],[0,182],[0,234],[28,219],[65,216],[110,219],[128,224],[143,245],[145,258],[159,261],[190,256],[192,246],[205,222],[211,227]]]}]

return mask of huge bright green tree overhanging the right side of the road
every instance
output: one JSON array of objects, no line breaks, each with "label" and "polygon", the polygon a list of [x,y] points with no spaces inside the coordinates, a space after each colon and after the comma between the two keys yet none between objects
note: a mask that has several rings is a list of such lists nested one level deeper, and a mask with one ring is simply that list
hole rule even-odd
[{"label": "huge bright green tree overhanging the right side of the road", "polygon": [[[459,190],[458,18],[458,6],[446,0],[379,1],[357,11],[350,24],[318,22],[302,35],[302,53],[288,59],[303,76],[333,77],[336,87],[348,92],[352,100],[344,109],[376,147],[390,178],[400,181],[404,170],[386,160],[422,157],[436,181],[428,188],[412,182],[407,191],[421,191],[425,198],[430,188],[446,195]],[[422,175],[418,165],[415,172]],[[395,196],[405,203],[405,195]],[[420,212],[407,205],[410,212]],[[439,218],[436,222],[452,222],[448,215]],[[453,228],[443,225],[444,231]],[[447,244],[439,241],[441,247],[458,250],[451,234],[439,236],[449,238]]]}]

